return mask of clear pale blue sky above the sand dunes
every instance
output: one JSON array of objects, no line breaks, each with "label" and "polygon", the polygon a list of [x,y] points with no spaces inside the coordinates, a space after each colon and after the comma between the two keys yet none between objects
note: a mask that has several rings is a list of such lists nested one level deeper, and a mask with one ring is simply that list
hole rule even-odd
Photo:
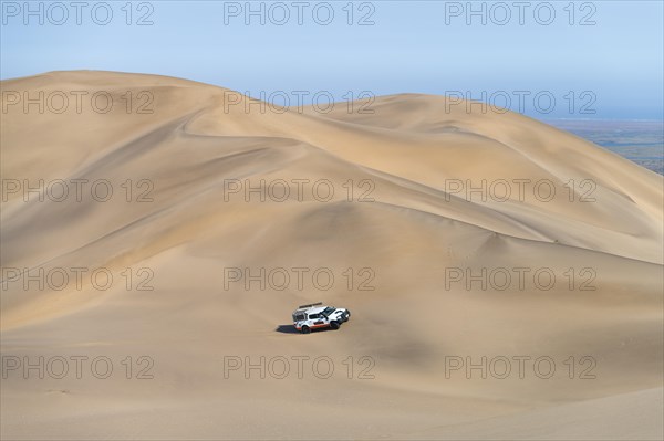
[{"label": "clear pale blue sky above the sand dunes", "polygon": [[[30,2],[33,10],[43,3],[43,25],[39,14],[24,17],[23,1],[1,3],[3,80],[91,69],[186,77],[255,96],[260,91],[330,91],[336,99],[346,91],[469,92],[480,99],[486,91],[498,105],[509,95],[515,111],[518,91],[528,91],[522,109],[540,118],[662,118],[664,10],[658,0],[526,1],[523,24],[516,1],[473,2],[471,8],[486,9],[486,25],[480,15],[469,17],[467,24],[466,1],[356,1],[353,25],[347,0],[304,1],[302,25],[293,1],[281,2],[291,13],[283,25],[270,22],[270,11],[274,20],[283,11],[273,1],[251,2],[255,9],[264,4],[264,25],[259,17],[245,23],[245,1],[135,1],[131,25],[127,1],[106,2],[113,12],[106,25],[91,14],[96,7],[103,21],[103,2],[84,1],[81,24],[72,1],[61,2],[69,13],[61,25],[55,22],[63,9],[54,2]],[[321,25],[312,11],[317,7],[318,19],[325,20],[326,4],[334,19]],[[231,17],[238,8],[239,17]],[[541,24],[550,10],[556,13],[551,24]],[[500,25],[506,11],[511,19]],[[136,25],[145,13],[153,24]],[[374,24],[357,25],[366,13]],[[584,17],[594,24],[580,25]],[[556,99],[551,114],[543,113],[546,101],[536,107],[533,96],[542,92]],[[580,113],[583,104],[596,113]]]}]

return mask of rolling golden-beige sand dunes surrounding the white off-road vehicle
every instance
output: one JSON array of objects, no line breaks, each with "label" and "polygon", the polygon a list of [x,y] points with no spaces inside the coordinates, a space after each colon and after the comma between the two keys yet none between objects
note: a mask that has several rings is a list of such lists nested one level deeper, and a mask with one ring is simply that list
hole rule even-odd
[{"label": "rolling golden-beige sand dunes surrounding the white off-road vehicle", "polygon": [[[115,369],[4,369],[3,438],[663,437],[661,176],[439,96],[359,114],[261,112],[225,88],[107,72],[1,88],[3,368],[82,355]],[[101,91],[107,113],[87,99]],[[24,92],[85,98],[39,113],[13,103]],[[24,191],[40,179],[42,195]],[[60,180],[81,182],[81,200],[59,198]],[[104,202],[90,193],[102,181]],[[276,279],[247,287],[236,269]],[[276,330],[315,301],[353,318]],[[127,379],[127,356],[135,369],[149,357],[154,378]],[[225,372],[232,357],[293,356],[329,357],[335,374]],[[359,378],[366,367],[374,378]]]}]

